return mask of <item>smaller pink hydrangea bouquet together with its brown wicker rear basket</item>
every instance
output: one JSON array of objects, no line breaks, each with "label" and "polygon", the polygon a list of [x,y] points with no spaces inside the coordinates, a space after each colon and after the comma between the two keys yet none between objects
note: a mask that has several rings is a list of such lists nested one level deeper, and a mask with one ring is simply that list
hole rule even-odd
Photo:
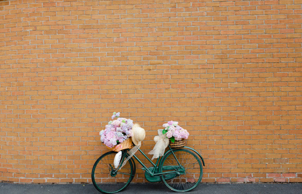
[{"label": "smaller pink hydrangea bouquet together with its brown wicker rear basket", "polygon": [[165,128],[163,134],[166,134],[167,138],[170,139],[170,147],[178,148],[183,147],[186,144],[184,139],[188,139],[189,132],[178,125],[178,122],[169,121],[163,124]]}]

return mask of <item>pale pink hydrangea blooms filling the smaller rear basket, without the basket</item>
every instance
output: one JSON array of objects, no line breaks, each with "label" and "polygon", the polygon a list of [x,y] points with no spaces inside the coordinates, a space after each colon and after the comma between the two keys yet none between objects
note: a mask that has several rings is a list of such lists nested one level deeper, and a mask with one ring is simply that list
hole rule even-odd
[{"label": "pale pink hydrangea blooms filling the smaller rear basket, without the basket", "polygon": [[169,121],[168,123],[163,124],[165,130],[163,133],[166,133],[166,136],[170,138],[174,138],[177,141],[182,139],[188,139],[189,132],[178,125],[178,122]]}]

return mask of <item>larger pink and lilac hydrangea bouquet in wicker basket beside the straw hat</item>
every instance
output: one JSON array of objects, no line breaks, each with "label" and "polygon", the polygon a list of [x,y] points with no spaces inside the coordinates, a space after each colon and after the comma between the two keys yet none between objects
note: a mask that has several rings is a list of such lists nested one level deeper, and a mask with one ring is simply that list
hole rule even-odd
[{"label": "larger pink and lilac hydrangea bouquet in wicker basket beside the straw hat", "polygon": [[132,147],[132,126],[133,121],[127,118],[119,118],[120,113],[113,113],[112,119],[105,126],[105,130],[100,131],[101,142],[104,143],[109,150],[118,152]]}]

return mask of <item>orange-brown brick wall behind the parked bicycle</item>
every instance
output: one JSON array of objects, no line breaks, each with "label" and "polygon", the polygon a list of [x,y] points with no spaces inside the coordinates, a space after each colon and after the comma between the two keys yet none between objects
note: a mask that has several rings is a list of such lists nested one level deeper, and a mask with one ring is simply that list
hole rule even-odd
[{"label": "orange-brown brick wall behind the parked bicycle", "polygon": [[1,181],[91,182],[121,112],[203,182],[302,182],[302,0],[1,0],[0,111]]}]

